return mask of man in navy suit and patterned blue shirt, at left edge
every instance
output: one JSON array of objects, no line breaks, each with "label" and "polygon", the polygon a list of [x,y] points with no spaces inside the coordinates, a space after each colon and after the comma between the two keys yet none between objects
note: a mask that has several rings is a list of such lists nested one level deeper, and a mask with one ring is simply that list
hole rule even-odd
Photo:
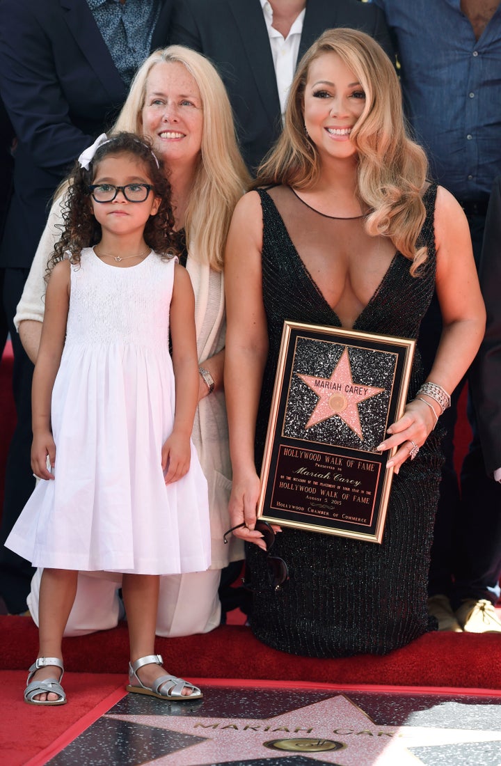
[{"label": "man in navy suit and patterned blue shirt, at left edge", "polygon": [[0,531],[0,594],[11,613],[26,609],[32,569],[3,543],[34,487],[33,366],[12,319],[57,185],[80,152],[112,125],[127,95],[131,59],[134,68],[141,61],[135,57],[144,58],[167,38],[171,0],[120,2],[0,2],[0,91],[17,137],[14,190],[0,248],[18,413]]}]

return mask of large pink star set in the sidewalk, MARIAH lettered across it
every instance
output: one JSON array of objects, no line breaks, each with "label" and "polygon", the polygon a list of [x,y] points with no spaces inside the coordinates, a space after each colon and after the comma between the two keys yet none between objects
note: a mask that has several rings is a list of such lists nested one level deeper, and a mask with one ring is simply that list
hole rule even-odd
[{"label": "large pink star set in the sidewalk, MARIAH lettered across it", "polygon": [[[201,712],[201,711],[200,711]],[[461,728],[378,725],[346,696],[339,695],[276,715],[270,719],[164,718],[155,715],[112,715],[114,719],[137,722],[203,737],[184,746],[155,766],[202,766],[202,764],[252,764],[307,755],[309,761],[342,766],[416,766],[419,762],[409,748],[457,745],[471,742],[499,742],[501,732]]]}]

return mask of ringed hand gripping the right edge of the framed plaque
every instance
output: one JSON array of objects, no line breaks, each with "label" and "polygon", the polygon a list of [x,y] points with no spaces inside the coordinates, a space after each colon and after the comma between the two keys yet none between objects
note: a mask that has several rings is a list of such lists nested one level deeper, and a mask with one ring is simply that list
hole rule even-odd
[{"label": "ringed hand gripping the right edge of the framed plaque", "polygon": [[[376,450],[391,450],[399,447],[393,457],[386,463],[387,468],[393,467],[395,473],[399,473],[400,466],[405,463],[415,447],[422,447],[435,425],[433,413],[424,401],[413,399],[405,407],[402,417],[393,423],[387,430],[386,437]],[[415,453],[416,455],[417,453]],[[411,458],[412,460],[412,458]]]}]

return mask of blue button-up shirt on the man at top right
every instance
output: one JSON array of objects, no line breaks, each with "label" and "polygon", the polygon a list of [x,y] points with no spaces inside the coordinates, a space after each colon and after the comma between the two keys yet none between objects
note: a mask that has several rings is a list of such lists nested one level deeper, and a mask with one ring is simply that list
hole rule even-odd
[{"label": "blue button-up shirt on the man at top right", "polygon": [[480,40],[460,0],[372,0],[402,65],[405,108],[431,173],[460,201],[501,174],[501,5]]}]

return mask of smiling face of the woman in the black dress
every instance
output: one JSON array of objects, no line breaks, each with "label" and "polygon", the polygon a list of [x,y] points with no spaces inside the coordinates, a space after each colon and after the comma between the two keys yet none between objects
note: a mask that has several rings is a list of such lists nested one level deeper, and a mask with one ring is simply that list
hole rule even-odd
[{"label": "smiling face of the woman in the black dress", "polygon": [[353,71],[333,51],[311,62],[304,88],[304,125],[321,159],[356,155],[350,133],[366,106]]}]

